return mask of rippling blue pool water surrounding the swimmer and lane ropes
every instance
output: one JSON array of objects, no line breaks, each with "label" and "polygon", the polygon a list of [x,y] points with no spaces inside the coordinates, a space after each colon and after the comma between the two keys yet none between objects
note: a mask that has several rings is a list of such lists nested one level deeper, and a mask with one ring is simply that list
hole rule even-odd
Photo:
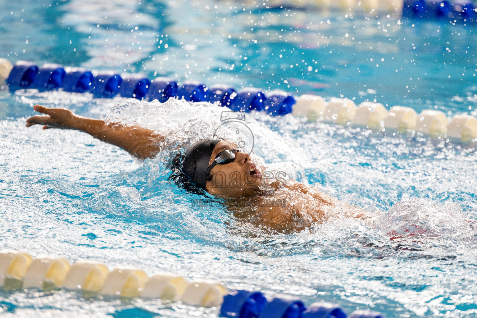
[{"label": "rippling blue pool water surrounding the swimmer and lane ropes", "polygon": [[[0,8],[0,57],[12,62],[342,95],[356,103],[375,99],[417,112],[475,112],[476,39],[469,26],[340,11],[262,10],[232,1],[30,1],[2,2]],[[139,162],[79,132],[27,129],[34,103],[141,123],[171,136],[170,146]],[[166,159],[179,139],[191,138],[190,143],[213,133],[222,110],[204,103],[0,92],[1,246],[70,262],[90,258],[149,274],[218,279],[269,296],[298,295],[308,305],[332,301],[348,312],[476,314],[477,232],[468,223],[477,217],[475,144],[250,113],[254,151],[271,168],[288,163],[320,191],[375,215],[336,217],[311,231],[270,235],[242,225],[219,204],[195,206],[200,197],[167,181]],[[182,127],[195,133],[181,133]],[[218,315],[217,308],[84,299],[65,291],[0,292],[0,312]]]}]

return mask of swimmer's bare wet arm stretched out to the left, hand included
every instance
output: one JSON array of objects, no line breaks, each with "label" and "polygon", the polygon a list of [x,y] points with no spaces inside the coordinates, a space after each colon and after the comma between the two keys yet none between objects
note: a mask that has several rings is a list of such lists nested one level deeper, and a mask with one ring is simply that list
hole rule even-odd
[{"label": "swimmer's bare wet arm stretched out to the left, hand included", "polygon": [[41,105],[33,109],[44,115],[27,119],[27,127],[43,125],[43,129],[61,128],[80,130],[108,144],[114,144],[139,159],[153,158],[160,151],[164,136],[138,126],[121,123],[105,123],[101,119],[79,116],[64,108],[48,108]]}]

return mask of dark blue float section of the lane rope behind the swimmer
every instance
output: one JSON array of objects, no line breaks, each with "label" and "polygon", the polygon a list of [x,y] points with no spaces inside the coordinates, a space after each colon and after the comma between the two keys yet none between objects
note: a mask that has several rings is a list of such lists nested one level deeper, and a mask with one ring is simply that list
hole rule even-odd
[{"label": "dark blue float section of the lane rope behind the swimmer", "polygon": [[185,81],[182,85],[169,77],[157,77],[149,81],[141,74],[124,74],[114,71],[93,72],[84,68],[67,68],[45,64],[40,68],[33,62],[18,61],[7,79],[10,91],[21,88],[39,90],[63,89],[66,92],[92,92],[96,98],[122,97],[139,100],[154,99],[164,103],[170,97],[184,98],[187,102],[218,103],[234,111],[267,111],[270,115],[291,113],[295,98],[288,93],[275,93],[267,98],[263,90],[246,87],[237,92],[227,84],[215,84],[210,88],[199,81]]}]

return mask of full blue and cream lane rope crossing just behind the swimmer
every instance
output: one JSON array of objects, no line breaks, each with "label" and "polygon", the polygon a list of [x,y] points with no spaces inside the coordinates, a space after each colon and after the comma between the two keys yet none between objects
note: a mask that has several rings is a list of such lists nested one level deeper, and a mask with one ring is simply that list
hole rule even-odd
[{"label": "full blue and cream lane rope crossing just behind the swimmer", "polygon": [[[8,74],[7,74],[8,73]],[[356,105],[347,98],[330,100],[318,95],[299,97],[284,91],[264,92],[255,87],[236,91],[227,84],[210,88],[199,81],[184,81],[181,85],[169,77],[149,81],[141,74],[120,75],[113,71],[89,71],[84,68],[62,68],[58,64],[38,67],[33,62],[0,59],[0,83],[6,81],[11,92],[35,88],[39,91],[62,89],[67,92],[91,92],[96,98],[111,98],[117,94],[127,98],[154,99],[164,103],[170,97],[188,102],[209,102],[227,106],[233,111],[265,112],[272,116],[292,113],[308,121],[323,121],[342,126],[360,127],[389,133],[420,133],[431,138],[449,138],[456,143],[469,143],[477,138],[477,118],[457,114],[449,120],[445,113],[424,110],[417,114],[406,106],[393,106],[388,111],[381,103],[363,102]]]}]

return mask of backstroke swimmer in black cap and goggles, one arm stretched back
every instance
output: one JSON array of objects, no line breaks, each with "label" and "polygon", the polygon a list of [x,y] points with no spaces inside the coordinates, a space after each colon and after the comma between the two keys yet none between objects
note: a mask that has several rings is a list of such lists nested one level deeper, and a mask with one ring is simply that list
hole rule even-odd
[{"label": "backstroke swimmer in black cap and goggles, one arm stretched back", "polygon": [[[26,126],[43,129],[73,129],[118,146],[140,160],[154,158],[165,136],[139,126],[106,123],[79,116],[70,110],[41,105],[33,109],[43,115],[27,119]],[[172,164],[171,180],[188,192],[216,196],[244,223],[267,233],[292,233],[327,221],[331,217],[366,217],[356,206],[332,198],[300,183],[266,184],[251,156],[223,139],[202,139],[178,154]],[[222,186],[229,185],[229,186]]]}]

